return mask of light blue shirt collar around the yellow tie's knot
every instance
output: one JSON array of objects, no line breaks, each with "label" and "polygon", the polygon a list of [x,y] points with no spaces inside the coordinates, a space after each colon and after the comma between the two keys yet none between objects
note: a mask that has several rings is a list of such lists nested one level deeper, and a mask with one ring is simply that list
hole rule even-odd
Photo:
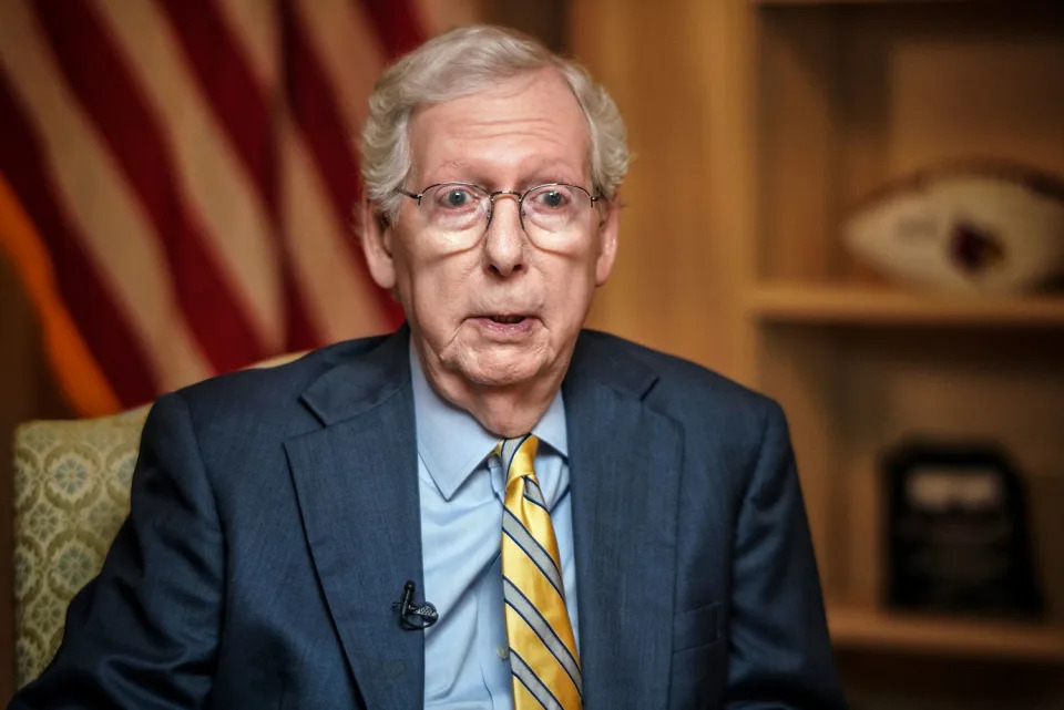
[{"label": "light blue shirt collar around the yellow tie's knot", "polygon": [[[499,436],[481,426],[466,410],[446,401],[429,384],[421,369],[421,359],[411,343],[410,381],[413,387],[413,418],[418,435],[418,454],[424,467],[450,501],[466,479],[488,457]],[[569,456],[565,433],[565,405],[559,390],[532,433],[563,457]]]}]

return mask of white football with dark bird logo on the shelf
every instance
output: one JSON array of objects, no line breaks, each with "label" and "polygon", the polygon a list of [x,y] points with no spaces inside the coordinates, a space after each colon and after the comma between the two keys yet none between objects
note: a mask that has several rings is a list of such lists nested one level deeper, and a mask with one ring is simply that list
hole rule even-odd
[{"label": "white football with dark bird logo on the shelf", "polygon": [[1064,282],[1064,181],[1019,165],[953,165],[888,183],[842,231],[855,256],[904,284],[1022,292]]}]

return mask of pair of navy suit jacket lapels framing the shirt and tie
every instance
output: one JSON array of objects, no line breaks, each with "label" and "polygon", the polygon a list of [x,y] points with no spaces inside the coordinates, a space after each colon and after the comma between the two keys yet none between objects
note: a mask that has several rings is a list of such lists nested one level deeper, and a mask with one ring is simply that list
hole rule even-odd
[{"label": "pair of navy suit jacket lapels framing the shirt and tie", "polygon": [[[656,373],[604,339],[581,336],[563,383],[584,707],[663,707],[683,431],[645,402]],[[390,608],[405,580],[423,588],[408,348],[405,327],[326,372],[301,398],[324,428],[285,444],[310,553],[370,710],[423,699],[423,636],[400,630]]]}]

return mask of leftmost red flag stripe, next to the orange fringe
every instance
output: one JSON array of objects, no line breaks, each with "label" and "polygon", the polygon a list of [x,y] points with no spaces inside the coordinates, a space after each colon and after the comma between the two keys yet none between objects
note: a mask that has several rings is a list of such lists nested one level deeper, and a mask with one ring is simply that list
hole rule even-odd
[{"label": "leftmost red flag stripe, next to the orange fringe", "polygon": [[57,198],[32,125],[0,70],[0,172],[45,241],[65,306],[115,393],[126,407],[146,402],[156,394],[155,379],[146,367],[150,358],[123,317],[120,301],[85,254],[76,223]]}]

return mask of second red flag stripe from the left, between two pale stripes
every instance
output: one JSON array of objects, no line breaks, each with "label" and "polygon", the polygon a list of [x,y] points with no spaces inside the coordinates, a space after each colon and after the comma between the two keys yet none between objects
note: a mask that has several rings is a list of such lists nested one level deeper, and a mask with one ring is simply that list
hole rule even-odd
[{"label": "second red flag stripe from the left, between two pale stripes", "polygon": [[177,300],[204,353],[219,371],[254,361],[263,354],[257,337],[174,184],[164,132],[99,18],[85,3],[41,3],[37,10],[71,90],[155,225]]}]

